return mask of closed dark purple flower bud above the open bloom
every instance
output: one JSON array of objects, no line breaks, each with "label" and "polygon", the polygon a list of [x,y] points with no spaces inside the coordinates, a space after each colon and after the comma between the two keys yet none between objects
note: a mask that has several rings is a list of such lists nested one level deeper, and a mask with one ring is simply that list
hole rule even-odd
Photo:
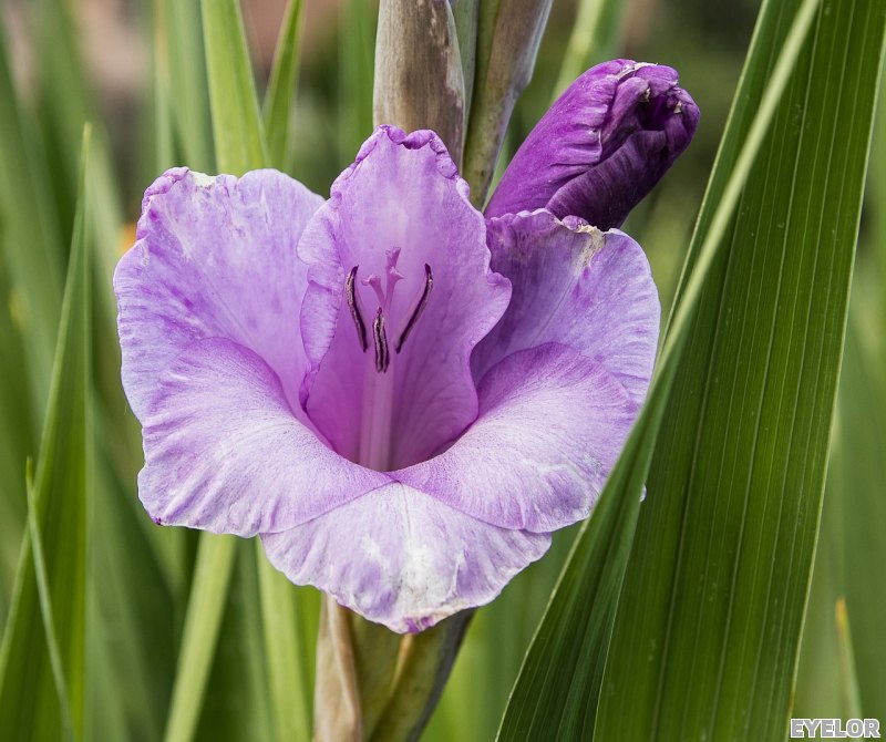
[{"label": "closed dark purple flower bud above the open bloom", "polygon": [[686,150],[699,121],[668,66],[614,60],[578,78],[526,137],[486,216],[547,208],[619,226]]}]

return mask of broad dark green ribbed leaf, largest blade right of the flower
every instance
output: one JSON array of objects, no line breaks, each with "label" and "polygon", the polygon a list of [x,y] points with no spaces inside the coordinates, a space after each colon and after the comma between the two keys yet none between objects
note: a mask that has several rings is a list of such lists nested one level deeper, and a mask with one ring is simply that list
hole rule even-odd
[{"label": "broad dark green ribbed leaf, largest blade right of the flower", "polygon": [[[764,4],[727,137],[743,138],[742,107],[804,10]],[[884,28],[883,3],[817,9],[711,265],[648,481],[599,739],[785,734]],[[700,231],[710,223],[702,213]]]}]

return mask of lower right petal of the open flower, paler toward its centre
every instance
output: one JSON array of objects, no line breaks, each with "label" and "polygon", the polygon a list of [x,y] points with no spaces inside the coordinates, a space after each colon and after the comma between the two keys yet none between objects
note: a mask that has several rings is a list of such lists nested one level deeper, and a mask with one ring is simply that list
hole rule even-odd
[{"label": "lower right petal of the open flower, paler toward its centre", "polygon": [[587,517],[638,406],[566,346],[512,353],[480,383],[476,422],[447,451],[392,476],[503,528],[552,532]]}]

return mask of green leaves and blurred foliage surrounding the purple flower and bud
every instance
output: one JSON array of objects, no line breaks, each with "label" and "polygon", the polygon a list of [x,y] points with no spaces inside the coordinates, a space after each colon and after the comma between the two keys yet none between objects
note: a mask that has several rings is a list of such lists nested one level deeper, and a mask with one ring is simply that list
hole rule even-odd
[{"label": "green leaves and blurred foliage surrounding the purple flower and bud", "polygon": [[[246,9],[249,47],[234,0],[126,3],[146,54],[122,102],[84,63],[114,60],[85,48],[82,4],[3,7],[2,740],[310,736],[318,595],[257,544],[146,517],[110,286],[164,168],[270,165],[327,193],[370,133],[372,3],[278,9],[272,61],[261,6]],[[693,145],[625,226],[671,323],[590,525],[477,612],[423,739],[886,723],[883,100],[867,169],[884,28],[884,0],[554,3],[503,162],[612,55],[677,68],[701,107]]]}]

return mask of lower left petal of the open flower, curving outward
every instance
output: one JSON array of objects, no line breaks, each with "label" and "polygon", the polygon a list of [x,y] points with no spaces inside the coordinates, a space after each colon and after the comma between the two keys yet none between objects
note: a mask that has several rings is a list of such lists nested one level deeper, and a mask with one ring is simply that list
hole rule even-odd
[{"label": "lower left petal of the open flower, curving outward", "polygon": [[155,389],[138,496],[157,523],[254,536],[390,481],[330,451],[296,420],[268,364],[229,340],[193,343]]}]

